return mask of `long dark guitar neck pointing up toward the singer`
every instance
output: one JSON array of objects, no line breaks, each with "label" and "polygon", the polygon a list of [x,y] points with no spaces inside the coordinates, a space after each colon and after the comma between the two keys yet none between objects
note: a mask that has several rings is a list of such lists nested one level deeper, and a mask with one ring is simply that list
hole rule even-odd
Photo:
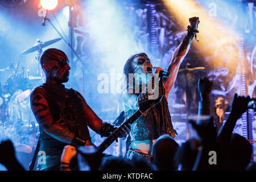
[{"label": "long dark guitar neck pointing up toward the singer", "polygon": [[134,121],[136,121],[136,119],[138,119],[141,116],[141,114],[141,111],[137,110],[133,115],[131,115],[131,117],[126,120],[126,122],[119,126],[118,129],[116,129],[108,138],[104,140],[104,142],[100,144],[100,146],[98,146],[98,150],[100,152],[104,152],[106,148],[110,146],[110,144],[112,144],[118,137],[122,135],[122,129],[125,128],[125,125],[131,125]]}]

